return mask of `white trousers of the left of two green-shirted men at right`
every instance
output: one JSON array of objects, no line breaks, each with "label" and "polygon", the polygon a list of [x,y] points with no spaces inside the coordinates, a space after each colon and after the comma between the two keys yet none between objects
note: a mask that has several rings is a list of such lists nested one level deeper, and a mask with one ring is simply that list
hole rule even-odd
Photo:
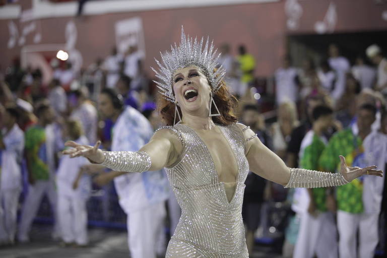
[{"label": "white trousers of the left of two green-shirted men at right", "polygon": [[334,215],[330,212],[317,217],[305,212],[301,216],[293,257],[312,258],[314,254],[318,258],[338,257],[337,229]]}]

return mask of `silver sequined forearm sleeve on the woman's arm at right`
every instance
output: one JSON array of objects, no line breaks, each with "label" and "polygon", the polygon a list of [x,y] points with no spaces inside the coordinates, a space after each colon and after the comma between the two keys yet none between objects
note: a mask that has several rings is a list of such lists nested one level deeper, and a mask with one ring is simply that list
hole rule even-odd
[{"label": "silver sequined forearm sleeve on the woman's arm at right", "polygon": [[330,187],[349,183],[341,173],[320,172],[303,168],[291,168],[290,179],[285,185],[289,187]]}]

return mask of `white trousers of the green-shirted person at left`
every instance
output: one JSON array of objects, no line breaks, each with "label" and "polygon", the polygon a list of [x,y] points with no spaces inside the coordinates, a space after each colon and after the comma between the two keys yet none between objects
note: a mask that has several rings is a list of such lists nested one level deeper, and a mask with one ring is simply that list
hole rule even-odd
[{"label": "white trousers of the green-shirted person at left", "polygon": [[30,184],[28,186],[28,194],[24,200],[18,232],[18,239],[20,241],[29,240],[28,234],[31,229],[31,224],[38,212],[44,194],[47,195],[54,214],[54,231],[52,232],[52,237],[56,238],[60,236],[59,224],[57,220],[55,183],[50,180],[37,180],[35,184]]}]

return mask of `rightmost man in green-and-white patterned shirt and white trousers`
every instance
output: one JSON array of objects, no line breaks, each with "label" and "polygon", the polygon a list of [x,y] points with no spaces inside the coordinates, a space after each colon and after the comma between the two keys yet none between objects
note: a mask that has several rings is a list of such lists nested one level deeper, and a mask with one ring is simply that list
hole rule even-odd
[{"label": "rightmost man in green-and-white patterned shirt and white trousers", "polygon": [[[384,167],[386,160],[385,140],[371,133],[376,108],[371,104],[359,107],[357,121],[352,127],[336,133],[321,154],[319,164],[325,170],[334,171],[340,161],[340,152],[347,164],[361,167],[377,164]],[[337,187],[337,227],[339,231],[340,258],[372,258],[378,242],[377,222],[381,203],[383,178],[362,176]],[[359,250],[357,251],[357,231]]]}]

